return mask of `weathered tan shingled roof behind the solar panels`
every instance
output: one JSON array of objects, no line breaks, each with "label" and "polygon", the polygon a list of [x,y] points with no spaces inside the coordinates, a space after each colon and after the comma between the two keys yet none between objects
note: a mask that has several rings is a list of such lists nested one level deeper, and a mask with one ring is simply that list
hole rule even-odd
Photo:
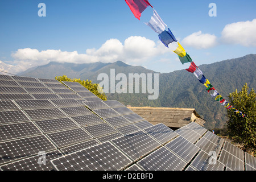
[{"label": "weathered tan shingled roof behind the solar panels", "polygon": [[204,126],[205,120],[196,113],[193,108],[171,108],[171,107],[128,107],[135,113],[156,125],[163,123],[168,127],[180,128],[191,122]]}]

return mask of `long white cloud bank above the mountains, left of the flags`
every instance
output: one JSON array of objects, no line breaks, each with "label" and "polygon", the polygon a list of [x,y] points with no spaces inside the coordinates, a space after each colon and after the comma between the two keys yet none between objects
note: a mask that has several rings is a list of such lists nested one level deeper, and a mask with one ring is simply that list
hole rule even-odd
[{"label": "long white cloud bank above the mountains, left of the flags", "polygon": [[141,65],[155,56],[163,53],[171,53],[162,42],[155,43],[153,40],[141,36],[130,36],[122,44],[118,39],[109,39],[98,49],[86,49],[85,53],[77,51],[67,52],[61,50],[48,49],[38,51],[38,49],[24,48],[18,49],[11,56],[14,58],[13,64],[25,71],[28,68],[38,65],[48,64],[50,61],[59,63],[113,63],[121,60],[127,64]]}]

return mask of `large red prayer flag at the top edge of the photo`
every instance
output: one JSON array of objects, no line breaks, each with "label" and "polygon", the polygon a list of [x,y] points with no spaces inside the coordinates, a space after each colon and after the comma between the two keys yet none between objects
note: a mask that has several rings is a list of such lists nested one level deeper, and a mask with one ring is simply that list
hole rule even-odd
[{"label": "large red prayer flag at the top edge of the photo", "polygon": [[130,7],[131,12],[133,12],[134,16],[139,20],[141,19],[141,13],[148,6],[151,6],[147,0],[125,0],[125,2]]}]

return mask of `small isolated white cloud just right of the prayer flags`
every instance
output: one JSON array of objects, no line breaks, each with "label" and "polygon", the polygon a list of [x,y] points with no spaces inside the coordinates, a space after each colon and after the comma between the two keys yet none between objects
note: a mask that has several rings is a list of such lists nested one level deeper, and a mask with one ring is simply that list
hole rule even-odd
[{"label": "small isolated white cloud just right of the prayer flags", "polygon": [[201,31],[198,31],[184,38],[181,44],[196,49],[207,49],[216,46],[217,37],[215,35],[202,34]]}]

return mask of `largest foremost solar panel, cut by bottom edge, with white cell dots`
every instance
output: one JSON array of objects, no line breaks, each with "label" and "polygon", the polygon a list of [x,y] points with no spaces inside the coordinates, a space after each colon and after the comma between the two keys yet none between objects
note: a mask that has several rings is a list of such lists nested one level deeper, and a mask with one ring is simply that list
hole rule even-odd
[{"label": "largest foremost solar panel, cut by bottom edge, with white cell dots", "polygon": [[51,160],[58,171],[117,171],[127,167],[131,160],[110,142],[105,142]]}]

